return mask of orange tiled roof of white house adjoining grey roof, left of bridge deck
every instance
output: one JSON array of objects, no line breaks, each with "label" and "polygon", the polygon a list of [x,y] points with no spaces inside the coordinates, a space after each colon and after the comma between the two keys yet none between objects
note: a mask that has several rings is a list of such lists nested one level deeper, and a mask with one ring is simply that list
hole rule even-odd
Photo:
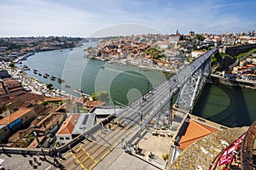
[{"label": "orange tiled roof of white house adjoining grey roof, left of bridge deck", "polygon": [[63,125],[57,132],[57,134],[72,134],[76,122],[79,120],[79,114],[70,114],[67,120],[63,122]]}]

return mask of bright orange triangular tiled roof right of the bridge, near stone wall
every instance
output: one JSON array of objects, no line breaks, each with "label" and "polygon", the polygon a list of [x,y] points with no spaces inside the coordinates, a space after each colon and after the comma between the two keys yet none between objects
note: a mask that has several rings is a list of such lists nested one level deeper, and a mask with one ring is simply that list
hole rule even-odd
[{"label": "bright orange triangular tiled roof right of the bridge, near stone wall", "polygon": [[216,133],[218,129],[214,127],[209,127],[200,122],[195,122],[193,120],[189,120],[189,126],[179,141],[179,150],[185,150],[189,147],[189,145],[193,144],[196,140],[201,139],[208,134]]}]

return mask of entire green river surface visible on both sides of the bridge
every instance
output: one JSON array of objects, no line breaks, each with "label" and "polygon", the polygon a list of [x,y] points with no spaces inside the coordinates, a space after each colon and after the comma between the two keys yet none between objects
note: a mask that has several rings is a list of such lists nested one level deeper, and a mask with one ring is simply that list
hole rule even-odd
[{"label": "entire green river surface visible on both sides of the bridge", "polygon": [[[127,105],[166,78],[160,71],[141,71],[133,65],[109,64],[98,59],[84,58],[84,49],[90,46],[96,46],[96,42],[84,43],[84,46],[73,50],[37,53],[22,61],[22,64],[31,68],[26,71],[28,76],[40,82],[52,83],[55,88],[69,94],[79,96],[73,92],[76,88],[82,89],[85,94],[108,91],[109,105],[113,105],[113,101]],[[100,65],[104,65],[104,68],[99,68]],[[42,76],[34,74],[34,69]],[[61,77],[65,82],[60,84],[44,78],[45,73]],[[228,127],[250,125],[256,120],[256,91],[206,84],[193,114]]]}]

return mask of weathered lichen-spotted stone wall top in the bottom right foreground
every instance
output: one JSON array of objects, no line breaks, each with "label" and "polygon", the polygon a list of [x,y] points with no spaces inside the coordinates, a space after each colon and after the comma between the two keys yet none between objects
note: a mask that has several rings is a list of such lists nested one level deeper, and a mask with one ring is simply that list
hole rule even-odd
[{"label": "weathered lichen-spotted stone wall top in the bottom right foreground", "polygon": [[[243,133],[247,132],[247,128],[248,127],[229,128],[198,139],[194,144],[191,144],[189,148],[183,150],[174,162],[169,163],[166,170],[209,169],[212,161],[227,147],[226,144],[232,144],[236,139],[241,137]],[[216,168],[216,170],[220,169],[223,169],[223,167]]]}]

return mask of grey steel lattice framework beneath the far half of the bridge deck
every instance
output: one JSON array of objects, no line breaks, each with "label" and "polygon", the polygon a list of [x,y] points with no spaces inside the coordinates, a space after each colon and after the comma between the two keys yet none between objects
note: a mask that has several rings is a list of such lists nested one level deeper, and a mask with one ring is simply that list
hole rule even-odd
[{"label": "grey steel lattice framework beneath the far half of the bridge deck", "polygon": [[176,106],[184,111],[191,111],[195,104],[195,99],[200,93],[201,88],[211,73],[211,60],[207,59],[197,71],[189,77],[180,89],[176,100]]}]

